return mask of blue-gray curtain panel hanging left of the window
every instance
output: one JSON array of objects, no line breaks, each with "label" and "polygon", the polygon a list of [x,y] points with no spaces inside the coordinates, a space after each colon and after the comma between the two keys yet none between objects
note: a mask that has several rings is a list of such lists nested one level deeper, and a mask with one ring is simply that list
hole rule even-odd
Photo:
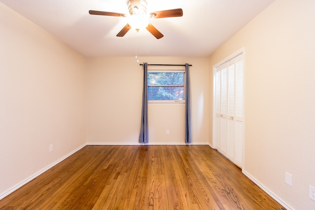
[{"label": "blue-gray curtain panel hanging left of the window", "polygon": [[142,114],[139,143],[148,143],[148,63],[143,63]]}]

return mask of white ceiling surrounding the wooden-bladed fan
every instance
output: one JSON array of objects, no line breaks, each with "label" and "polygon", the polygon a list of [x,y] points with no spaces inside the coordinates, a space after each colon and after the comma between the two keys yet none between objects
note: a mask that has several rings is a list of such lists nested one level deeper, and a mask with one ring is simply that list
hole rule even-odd
[{"label": "white ceiling surrounding the wooden-bladed fan", "polygon": [[[128,0],[0,0],[3,4],[88,56],[210,56],[274,0],[147,0],[148,12],[182,8],[183,17],[150,19],[163,35],[129,30],[127,18],[89,10],[128,13]],[[2,20],[3,21],[3,20]]]}]

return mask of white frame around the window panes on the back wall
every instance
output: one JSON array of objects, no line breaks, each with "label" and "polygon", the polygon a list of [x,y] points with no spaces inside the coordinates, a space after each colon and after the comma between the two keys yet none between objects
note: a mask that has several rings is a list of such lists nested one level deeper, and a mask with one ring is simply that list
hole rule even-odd
[{"label": "white frame around the window panes on the back wall", "polygon": [[[148,70],[148,79],[149,79],[149,73],[152,73],[152,72],[182,72],[184,73],[184,85],[183,85],[183,88],[184,88],[184,99],[183,100],[149,100],[148,99],[148,103],[158,103],[158,104],[162,104],[162,103],[166,103],[166,104],[170,104],[170,103],[175,103],[175,104],[185,104],[185,91],[186,91],[186,71],[185,70],[180,70],[180,69],[177,69],[177,70]],[[147,92],[148,92],[148,89],[149,87],[152,87],[151,85],[148,84],[148,81],[147,81]],[[159,86],[157,86],[159,87]],[[162,87],[162,86],[160,86]],[[182,87],[182,86],[178,86],[178,87]]]}]

